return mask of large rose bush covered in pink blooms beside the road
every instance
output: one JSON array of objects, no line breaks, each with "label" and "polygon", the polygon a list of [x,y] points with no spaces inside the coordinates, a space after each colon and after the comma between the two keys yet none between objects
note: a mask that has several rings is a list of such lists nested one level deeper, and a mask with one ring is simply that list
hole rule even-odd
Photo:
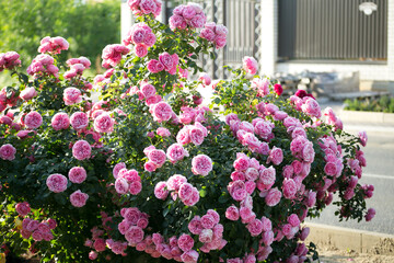
[{"label": "large rose bush covered in pink blooms beside the road", "polygon": [[[282,98],[252,57],[231,80],[187,79],[227,28],[195,3],[170,26],[154,20],[160,1],[128,3],[141,16],[125,45],[104,48],[93,81],[86,58],[58,61],[61,37],[42,41],[31,78],[18,54],[0,56],[18,80],[0,93],[2,250],[43,262],[303,262],[315,250],[301,224],[334,194],[340,220],[373,218],[373,186],[359,183],[367,134],[346,134],[329,108],[324,119],[305,92]],[[198,87],[215,90],[222,115]]]}]

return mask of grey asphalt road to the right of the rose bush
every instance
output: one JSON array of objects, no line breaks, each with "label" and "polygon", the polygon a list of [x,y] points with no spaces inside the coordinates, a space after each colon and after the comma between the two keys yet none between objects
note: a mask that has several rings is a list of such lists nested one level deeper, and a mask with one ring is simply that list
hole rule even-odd
[{"label": "grey asphalt road to the right of the rose bush", "polygon": [[360,129],[368,132],[368,144],[363,148],[367,168],[359,182],[374,185],[373,197],[367,199],[367,206],[375,208],[376,215],[369,222],[339,222],[334,215],[337,207],[331,205],[321,218],[309,221],[394,235],[394,127],[350,125],[345,126],[345,129],[351,134],[357,134]]}]

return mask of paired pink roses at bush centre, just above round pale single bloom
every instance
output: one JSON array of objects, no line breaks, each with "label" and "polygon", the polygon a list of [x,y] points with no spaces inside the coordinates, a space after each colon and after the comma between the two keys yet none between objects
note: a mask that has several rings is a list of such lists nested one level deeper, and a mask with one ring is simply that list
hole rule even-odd
[{"label": "paired pink roses at bush centre, just above round pale single bloom", "polygon": [[200,124],[195,122],[194,125],[185,125],[176,135],[176,141],[179,145],[194,144],[199,146],[204,142],[205,137],[208,136],[208,129]]}]

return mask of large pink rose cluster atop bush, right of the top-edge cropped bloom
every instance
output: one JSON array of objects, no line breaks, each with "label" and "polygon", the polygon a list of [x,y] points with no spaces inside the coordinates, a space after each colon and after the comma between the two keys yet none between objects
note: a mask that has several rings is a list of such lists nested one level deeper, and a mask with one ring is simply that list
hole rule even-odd
[{"label": "large pink rose cluster atop bush, right of the top-edge cropped bloom", "polygon": [[187,26],[190,28],[201,28],[207,22],[207,18],[202,12],[201,5],[197,3],[187,3],[176,7],[173,15],[170,18],[170,27],[172,30],[185,30]]}]

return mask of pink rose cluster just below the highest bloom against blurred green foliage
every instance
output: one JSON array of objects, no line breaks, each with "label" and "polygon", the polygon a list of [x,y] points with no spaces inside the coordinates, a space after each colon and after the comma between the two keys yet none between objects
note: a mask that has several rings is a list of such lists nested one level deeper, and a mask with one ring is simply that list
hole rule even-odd
[{"label": "pink rose cluster just below the highest bloom against blurred green foliage", "polygon": [[46,54],[36,56],[32,64],[27,67],[27,73],[34,77],[43,75],[59,77],[59,68],[54,65],[55,59]]}]

